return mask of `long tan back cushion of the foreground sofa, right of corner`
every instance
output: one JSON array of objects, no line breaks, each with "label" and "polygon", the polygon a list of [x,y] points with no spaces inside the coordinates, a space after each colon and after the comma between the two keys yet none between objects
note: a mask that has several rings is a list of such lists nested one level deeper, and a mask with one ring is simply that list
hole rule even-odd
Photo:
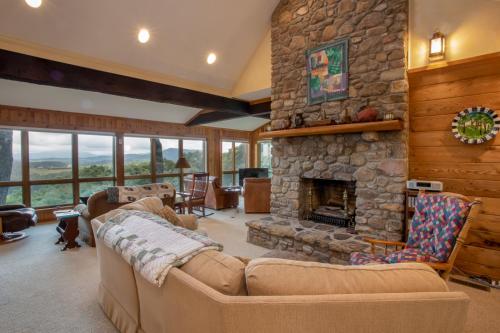
[{"label": "long tan back cushion of the foreground sofa, right of corner", "polygon": [[250,296],[448,291],[432,268],[418,263],[341,266],[261,258],[250,261],[245,276]]}]

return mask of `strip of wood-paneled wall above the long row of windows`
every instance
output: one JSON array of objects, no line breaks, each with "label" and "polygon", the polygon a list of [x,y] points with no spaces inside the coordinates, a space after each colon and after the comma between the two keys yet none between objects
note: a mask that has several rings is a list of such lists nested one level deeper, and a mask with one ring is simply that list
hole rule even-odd
[{"label": "strip of wood-paneled wall above the long row of windows", "polygon": [[207,169],[221,176],[221,140],[244,140],[251,143],[252,132],[213,127],[186,127],[158,121],[109,117],[73,112],[21,108],[0,105],[0,126],[54,129],[84,132],[107,132],[152,136],[204,138],[207,142]]}]

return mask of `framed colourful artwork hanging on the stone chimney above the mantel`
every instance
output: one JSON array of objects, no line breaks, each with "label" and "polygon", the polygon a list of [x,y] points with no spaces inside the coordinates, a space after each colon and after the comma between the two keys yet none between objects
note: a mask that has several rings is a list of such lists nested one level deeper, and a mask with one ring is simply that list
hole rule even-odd
[{"label": "framed colourful artwork hanging on the stone chimney above the mantel", "polygon": [[349,96],[349,39],[306,51],[309,105]]}]

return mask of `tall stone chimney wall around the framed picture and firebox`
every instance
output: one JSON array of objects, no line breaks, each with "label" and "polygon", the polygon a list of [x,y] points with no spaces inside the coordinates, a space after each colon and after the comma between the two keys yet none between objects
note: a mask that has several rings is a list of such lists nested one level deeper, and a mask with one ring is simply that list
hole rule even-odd
[{"label": "tall stone chimney wall around the framed picture and firebox", "polygon": [[[407,26],[407,0],[281,1],[272,17],[272,128],[287,128],[293,113],[339,121],[367,103],[407,125]],[[305,51],[345,37],[349,98],[309,106]],[[301,177],[355,180],[356,229],[400,239],[406,143],[406,130],[273,139],[271,213],[300,217]]]}]

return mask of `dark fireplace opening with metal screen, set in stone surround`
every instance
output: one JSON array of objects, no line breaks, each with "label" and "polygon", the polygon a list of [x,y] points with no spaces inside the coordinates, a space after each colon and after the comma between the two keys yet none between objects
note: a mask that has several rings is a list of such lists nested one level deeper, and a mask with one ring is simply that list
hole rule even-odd
[{"label": "dark fireplace opening with metal screen, set in stone surround", "polygon": [[354,228],[356,182],[303,178],[303,219]]}]

